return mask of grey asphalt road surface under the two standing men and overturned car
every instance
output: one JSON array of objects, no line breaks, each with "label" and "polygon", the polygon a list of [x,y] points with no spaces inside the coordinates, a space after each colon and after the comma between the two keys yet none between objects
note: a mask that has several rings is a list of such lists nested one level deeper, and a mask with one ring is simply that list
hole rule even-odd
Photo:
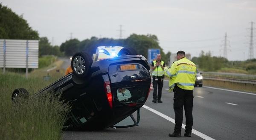
[{"label": "grey asphalt road surface under the two standing men and overturned car", "polygon": [[[140,109],[140,124],[131,128],[64,132],[64,140],[256,140],[256,94],[195,87],[192,137],[171,138],[175,118],[173,92],[164,81],[162,101],[152,103],[152,91]],[[153,112],[152,112],[153,111]],[[184,113],[183,113],[184,114]],[[163,117],[161,117],[163,116]],[[185,116],[183,117],[185,124]],[[182,129],[182,135],[185,129]]]}]

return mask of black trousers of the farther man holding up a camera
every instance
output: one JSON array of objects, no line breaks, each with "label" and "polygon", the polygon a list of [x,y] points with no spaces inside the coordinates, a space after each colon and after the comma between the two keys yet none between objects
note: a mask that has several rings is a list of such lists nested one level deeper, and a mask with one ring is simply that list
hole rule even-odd
[{"label": "black trousers of the farther man holding up a camera", "polygon": [[[157,94],[157,85],[158,85],[158,94]],[[153,76],[153,99],[161,100],[162,97],[162,89],[163,89],[163,77]]]}]

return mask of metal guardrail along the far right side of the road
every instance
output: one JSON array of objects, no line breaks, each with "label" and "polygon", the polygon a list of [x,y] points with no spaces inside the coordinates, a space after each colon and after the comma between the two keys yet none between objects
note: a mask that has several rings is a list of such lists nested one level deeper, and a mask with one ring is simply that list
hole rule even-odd
[{"label": "metal guardrail along the far right side of the road", "polygon": [[217,72],[202,72],[202,75],[204,79],[209,80],[230,81],[244,84],[256,84],[256,75]]}]

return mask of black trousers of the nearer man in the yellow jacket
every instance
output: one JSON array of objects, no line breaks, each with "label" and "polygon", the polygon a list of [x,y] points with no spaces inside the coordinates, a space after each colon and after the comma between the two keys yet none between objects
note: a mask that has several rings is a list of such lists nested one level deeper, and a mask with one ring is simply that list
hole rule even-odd
[{"label": "black trousers of the nearer man in the yellow jacket", "polygon": [[174,98],[173,98],[173,108],[175,112],[175,133],[181,132],[181,126],[183,121],[183,106],[185,110],[185,117],[186,117],[186,127],[185,132],[191,133],[192,126],[193,126],[193,116],[192,116],[192,109],[193,109],[193,90],[183,90],[177,85],[174,88]]}]

